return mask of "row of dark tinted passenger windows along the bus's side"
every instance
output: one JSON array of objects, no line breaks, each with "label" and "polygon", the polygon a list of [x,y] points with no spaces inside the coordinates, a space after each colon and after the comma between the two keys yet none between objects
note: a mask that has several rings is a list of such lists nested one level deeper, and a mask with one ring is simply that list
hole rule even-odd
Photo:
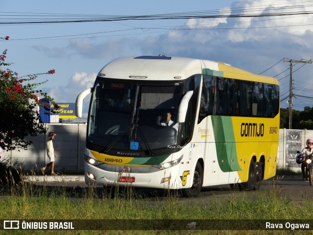
[{"label": "row of dark tinted passenger windows along the bus's side", "polygon": [[273,118],[278,113],[277,85],[203,76],[198,123],[209,115]]}]

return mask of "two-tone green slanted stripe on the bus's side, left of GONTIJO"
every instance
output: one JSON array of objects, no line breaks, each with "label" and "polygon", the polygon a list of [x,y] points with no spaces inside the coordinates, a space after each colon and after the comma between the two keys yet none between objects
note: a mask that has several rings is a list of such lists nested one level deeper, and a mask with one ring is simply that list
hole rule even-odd
[{"label": "two-tone green slanted stripe on the bus's side, left of GONTIJO", "polygon": [[223,172],[241,170],[231,117],[211,116],[219,166]]}]

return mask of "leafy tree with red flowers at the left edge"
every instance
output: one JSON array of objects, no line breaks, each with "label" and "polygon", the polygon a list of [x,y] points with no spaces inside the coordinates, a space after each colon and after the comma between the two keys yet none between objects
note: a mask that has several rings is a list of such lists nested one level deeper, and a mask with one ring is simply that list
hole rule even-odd
[{"label": "leafy tree with red flowers at the left edge", "polygon": [[[9,37],[0,38],[9,40]],[[37,105],[50,110],[48,105],[40,102],[39,96],[47,98],[56,108],[54,100],[42,90],[36,90],[37,86],[47,82],[31,83],[39,75],[53,74],[55,71],[36,73],[19,77],[17,72],[11,71],[11,65],[5,63],[7,50],[0,55],[0,147],[4,150],[16,148],[26,149],[32,141],[26,141],[26,136],[37,136],[47,131],[43,123],[40,123],[40,115],[36,110]],[[5,67],[6,69],[2,68]]]}]

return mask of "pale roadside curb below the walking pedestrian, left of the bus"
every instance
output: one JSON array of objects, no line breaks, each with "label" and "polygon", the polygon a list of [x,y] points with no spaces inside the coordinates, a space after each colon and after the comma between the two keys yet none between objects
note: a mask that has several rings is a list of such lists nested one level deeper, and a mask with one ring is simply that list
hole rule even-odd
[{"label": "pale roadside curb below the walking pedestrian, left of the bus", "polygon": [[30,182],[85,182],[84,175],[28,175],[25,181]]}]

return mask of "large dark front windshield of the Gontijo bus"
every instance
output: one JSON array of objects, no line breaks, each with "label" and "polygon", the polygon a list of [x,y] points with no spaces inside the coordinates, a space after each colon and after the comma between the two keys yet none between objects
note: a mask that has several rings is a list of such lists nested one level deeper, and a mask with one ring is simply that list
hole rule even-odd
[{"label": "large dark front windshield of the Gontijo bus", "polygon": [[[182,83],[98,78],[90,104],[88,141],[102,147],[101,152],[152,150],[178,144],[176,120],[182,91]],[[170,123],[166,123],[168,118]]]}]

